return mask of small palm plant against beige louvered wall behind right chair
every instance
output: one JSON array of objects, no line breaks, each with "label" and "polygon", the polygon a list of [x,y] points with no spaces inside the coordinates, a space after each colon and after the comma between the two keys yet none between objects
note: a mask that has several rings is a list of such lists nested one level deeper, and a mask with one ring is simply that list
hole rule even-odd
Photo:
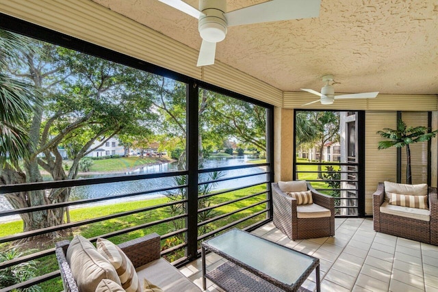
[{"label": "small palm plant against beige louvered wall behind right chair", "polygon": [[406,146],[406,183],[412,184],[411,176],[411,150],[409,144],[417,142],[426,142],[437,135],[438,130],[431,131],[427,127],[407,127],[406,123],[399,119],[397,129],[385,128],[383,131],[377,131],[378,135],[389,139],[378,142],[378,150],[389,147],[403,148]]}]

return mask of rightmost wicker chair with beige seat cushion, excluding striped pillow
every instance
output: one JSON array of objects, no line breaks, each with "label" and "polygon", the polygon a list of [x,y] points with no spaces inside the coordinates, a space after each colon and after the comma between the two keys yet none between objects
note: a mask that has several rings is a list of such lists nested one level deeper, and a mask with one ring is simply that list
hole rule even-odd
[{"label": "rightmost wicker chair with beige seat cushion, excluding striped pillow", "polygon": [[[417,209],[389,204],[388,200],[385,200],[385,185],[387,185],[386,191],[388,189],[392,191],[389,187],[397,187],[396,184],[390,182],[378,183],[377,190],[372,196],[374,230],[438,245],[437,188],[423,187],[424,194],[428,196],[428,209]],[[409,185],[398,185],[409,187]]]}]

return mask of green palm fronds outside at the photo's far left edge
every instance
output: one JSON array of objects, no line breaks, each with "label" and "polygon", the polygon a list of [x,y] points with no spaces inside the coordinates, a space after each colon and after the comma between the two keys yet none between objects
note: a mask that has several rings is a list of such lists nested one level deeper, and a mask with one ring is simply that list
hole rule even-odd
[{"label": "green palm fronds outside at the photo's far left edge", "polygon": [[0,164],[9,158],[14,166],[29,155],[25,122],[40,105],[40,94],[31,85],[8,76],[8,63],[16,62],[18,50],[27,49],[23,37],[0,29]]}]

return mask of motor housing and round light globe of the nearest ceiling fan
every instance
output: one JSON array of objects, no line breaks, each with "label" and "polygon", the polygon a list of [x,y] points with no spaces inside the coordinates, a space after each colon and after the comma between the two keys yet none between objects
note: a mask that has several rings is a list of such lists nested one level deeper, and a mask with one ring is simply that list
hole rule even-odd
[{"label": "motor housing and round light globe of the nearest ceiling fan", "polygon": [[201,0],[199,10],[201,15],[198,22],[199,34],[207,42],[221,42],[227,35],[227,20],[224,13],[227,9],[225,0]]}]

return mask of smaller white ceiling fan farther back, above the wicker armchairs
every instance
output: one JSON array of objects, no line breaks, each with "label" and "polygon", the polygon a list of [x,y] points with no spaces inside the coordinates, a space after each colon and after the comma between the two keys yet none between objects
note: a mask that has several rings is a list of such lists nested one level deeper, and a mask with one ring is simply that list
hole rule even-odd
[{"label": "smaller white ceiling fan farther back, above the wicker armchairs", "polygon": [[[305,105],[311,105],[312,103],[321,102],[322,105],[331,105],[335,99],[345,99],[345,98],[374,98],[377,96],[378,92],[363,92],[363,93],[355,93],[355,94],[342,94],[335,96],[335,88],[333,88],[333,75],[324,75],[322,77],[322,81],[326,83],[323,88],[321,88],[321,93],[311,89],[301,88],[301,90],[310,92],[312,94],[316,94],[320,96],[320,99],[316,101],[311,101],[310,103],[306,103]],[[304,105],[303,105],[304,106]]]}]

